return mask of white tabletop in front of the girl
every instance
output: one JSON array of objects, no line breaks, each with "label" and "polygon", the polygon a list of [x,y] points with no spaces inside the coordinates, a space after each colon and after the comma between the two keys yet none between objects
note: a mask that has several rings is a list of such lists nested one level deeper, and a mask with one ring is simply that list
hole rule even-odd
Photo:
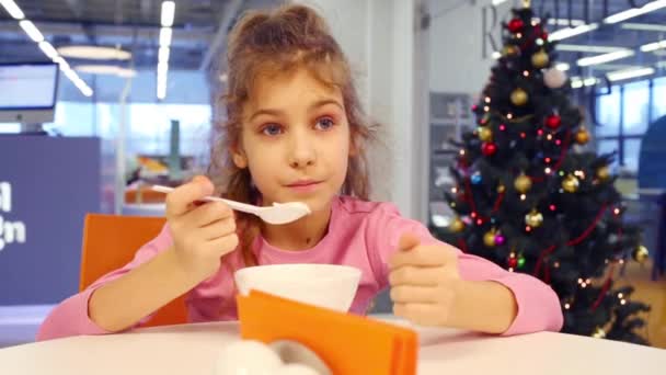
[{"label": "white tabletop in front of the girl", "polygon": [[[607,340],[550,332],[512,338],[435,329],[420,333],[418,374],[423,375],[666,371],[666,350]],[[0,374],[210,375],[220,348],[232,340],[239,340],[237,322],[67,338],[0,350]]]}]

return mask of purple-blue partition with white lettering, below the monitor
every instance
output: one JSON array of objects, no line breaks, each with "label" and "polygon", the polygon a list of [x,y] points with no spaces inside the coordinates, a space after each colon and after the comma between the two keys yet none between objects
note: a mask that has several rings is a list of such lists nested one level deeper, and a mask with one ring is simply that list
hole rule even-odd
[{"label": "purple-blue partition with white lettering, below the monitor", "polygon": [[54,304],[79,283],[100,212],[100,139],[0,135],[0,305]]}]

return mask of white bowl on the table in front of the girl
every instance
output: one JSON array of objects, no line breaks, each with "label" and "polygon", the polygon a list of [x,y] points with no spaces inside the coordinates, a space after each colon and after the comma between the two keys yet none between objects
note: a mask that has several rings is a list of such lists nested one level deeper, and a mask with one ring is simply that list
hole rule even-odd
[{"label": "white bowl on the table in front of the girl", "polygon": [[335,264],[274,264],[240,269],[233,277],[243,295],[257,289],[346,312],[356,296],[360,270]]}]

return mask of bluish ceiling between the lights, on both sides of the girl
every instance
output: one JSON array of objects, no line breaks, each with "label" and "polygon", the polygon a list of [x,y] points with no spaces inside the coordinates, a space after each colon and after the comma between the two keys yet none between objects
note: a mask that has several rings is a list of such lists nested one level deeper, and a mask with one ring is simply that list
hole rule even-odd
[{"label": "bluish ceiling between the lights, on both sides of the girl", "polygon": [[[120,47],[133,54],[133,59],[125,63],[126,66],[136,69],[156,69],[161,0],[15,1],[23,9],[26,18],[37,25],[56,48],[79,44]],[[490,2],[490,0],[476,1]],[[560,43],[565,46],[622,47],[636,52],[632,57],[606,65],[578,68],[576,61],[579,58],[600,53],[560,50],[559,59],[569,63],[572,67],[570,75],[600,77],[613,69],[638,66],[659,67],[662,65],[664,67],[657,68],[657,75],[666,75],[666,63],[664,63],[666,61],[666,49],[657,53],[643,53],[639,49],[644,44],[666,39],[666,8],[617,24],[600,22],[606,15],[629,9],[630,1],[532,0],[532,8],[538,14],[550,13],[551,18],[588,20],[588,22],[599,23],[599,27],[593,32],[561,41]],[[642,5],[652,0],[633,1]],[[176,1],[170,68],[206,70],[211,66],[215,67],[223,54],[223,35],[233,19],[245,9],[262,8],[278,2],[277,0]],[[585,7],[586,4],[588,7]],[[629,30],[625,29],[627,23],[661,25],[664,30]],[[555,30],[554,25],[549,27],[551,33]],[[34,43],[30,42],[18,22],[0,9],[0,64],[35,60],[46,60],[46,57]],[[84,63],[89,61],[70,61],[74,66]]]}]

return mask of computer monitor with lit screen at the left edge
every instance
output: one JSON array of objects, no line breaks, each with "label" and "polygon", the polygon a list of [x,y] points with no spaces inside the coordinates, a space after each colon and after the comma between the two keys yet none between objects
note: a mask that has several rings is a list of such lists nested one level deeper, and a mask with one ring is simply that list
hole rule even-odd
[{"label": "computer monitor with lit screen at the left edge", "polygon": [[23,128],[54,121],[58,65],[24,63],[0,65],[0,123]]}]

